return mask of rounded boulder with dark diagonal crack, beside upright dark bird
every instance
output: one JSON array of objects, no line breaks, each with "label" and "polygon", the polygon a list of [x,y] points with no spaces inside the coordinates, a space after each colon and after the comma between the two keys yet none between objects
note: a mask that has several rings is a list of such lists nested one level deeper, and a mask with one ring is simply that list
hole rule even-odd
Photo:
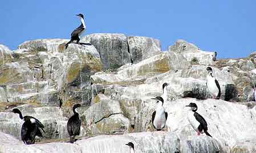
[{"label": "rounded boulder with dark diagonal crack, beside upright dark bird", "polygon": [[103,100],[92,105],[81,116],[91,134],[115,134],[127,131],[129,120],[124,117],[119,102]]}]

